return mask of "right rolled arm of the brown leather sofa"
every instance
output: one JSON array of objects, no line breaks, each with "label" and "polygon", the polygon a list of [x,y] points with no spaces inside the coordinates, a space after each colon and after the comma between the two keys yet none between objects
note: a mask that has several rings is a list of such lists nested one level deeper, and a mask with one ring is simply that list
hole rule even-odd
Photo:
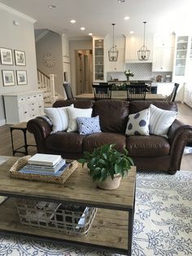
[{"label": "right rolled arm of the brown leather sofa", "polygon": [[192,139],[192,126],[185,125],[176,119],[168,130],[170,155],[172,156],[170,170],[180,170],[185,144],[190,139]]}]

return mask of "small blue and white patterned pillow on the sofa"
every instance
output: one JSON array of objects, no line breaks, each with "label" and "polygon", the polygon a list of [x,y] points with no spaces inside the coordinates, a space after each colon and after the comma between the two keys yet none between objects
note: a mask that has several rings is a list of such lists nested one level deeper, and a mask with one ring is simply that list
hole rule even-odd
[{"label": "small blue and white patterned pillow on the sofa", "polygon": [[80,135],[91,135],[95,132],[102,132],[99,125],[99,117],[77,117],[76,118]]}]

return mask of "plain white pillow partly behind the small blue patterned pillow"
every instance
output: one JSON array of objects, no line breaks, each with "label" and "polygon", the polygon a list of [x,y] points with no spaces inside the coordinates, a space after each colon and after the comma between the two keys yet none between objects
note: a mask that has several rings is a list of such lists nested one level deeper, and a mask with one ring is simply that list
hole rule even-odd
[{"label": "plain white pillow partly behind the small blue patterned pillow", "polygon": [[68,108],[68,130],[67,132],[78,130],[77,117],[91,117],[92,108]]}]

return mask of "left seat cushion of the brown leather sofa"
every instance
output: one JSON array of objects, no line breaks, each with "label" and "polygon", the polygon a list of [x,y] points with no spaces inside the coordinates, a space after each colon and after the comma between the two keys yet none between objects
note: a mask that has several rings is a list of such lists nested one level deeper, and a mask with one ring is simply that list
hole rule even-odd
[{"label": "left seat cushion of the brown leather sofa", "polygon": [[82,142],[85,135],[77,132],[60,131],[46,137],[46,148],[59,152],[82,152]]}]

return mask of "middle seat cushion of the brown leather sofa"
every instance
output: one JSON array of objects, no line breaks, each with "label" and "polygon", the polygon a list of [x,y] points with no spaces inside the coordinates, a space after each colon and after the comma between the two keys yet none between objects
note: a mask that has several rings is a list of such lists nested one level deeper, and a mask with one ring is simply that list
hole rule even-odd
[{"label": "middle seat cushion of the brown leather sofa", "polygon": [[83,151],[93,152],[94,148],[98,148],[103,144],[116,143],[116,150],[124,152],[126,145],[125,135],[111,133],[111,132],[100,132],[93,135],[87,135],[83,139]]}]

